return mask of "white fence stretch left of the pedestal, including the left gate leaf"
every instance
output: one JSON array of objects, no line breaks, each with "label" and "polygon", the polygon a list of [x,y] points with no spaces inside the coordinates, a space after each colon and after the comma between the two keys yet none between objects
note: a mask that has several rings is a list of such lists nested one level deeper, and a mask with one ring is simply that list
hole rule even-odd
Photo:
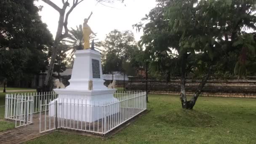
[{"label": "white fence stretch left of the pedestal, including the left gate leaf", "polygon": [[54,92],[6,94],[5,119],[15,120],[16,127],[30,124],[32,115],[40,112],[40,101],[48,104],[57,97]]}]

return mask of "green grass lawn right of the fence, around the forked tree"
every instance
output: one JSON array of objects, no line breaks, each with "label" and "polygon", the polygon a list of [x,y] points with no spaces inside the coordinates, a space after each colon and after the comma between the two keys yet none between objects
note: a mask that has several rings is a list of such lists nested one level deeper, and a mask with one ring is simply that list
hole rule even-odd
[{"label": "green grass lawn right of the fence, around the forked tree", "polygon": [[256,99],[200,97],[195,110],[179,97],[149,95],[146,115],[105,139],[54,132],[27,144],[254,144]]}]

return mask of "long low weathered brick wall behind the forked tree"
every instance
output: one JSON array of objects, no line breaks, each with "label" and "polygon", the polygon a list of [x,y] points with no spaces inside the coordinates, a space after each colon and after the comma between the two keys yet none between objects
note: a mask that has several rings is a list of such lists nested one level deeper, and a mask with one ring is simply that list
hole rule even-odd
[{"label": "long low weathered brick wall behind the forked tree", "polygon": [[[186,91],[188,96],[192,96],[199,85],[199,81],[187,81]],[[145,91],[144,81],[130,81],[125,87],[127,90]],[[149,82],[149,94],[179,95],[180,83]],[[210,81],[206,83],[200,96],[211,97],[234,97],[234,98],[256,98],[256,81]]]}]

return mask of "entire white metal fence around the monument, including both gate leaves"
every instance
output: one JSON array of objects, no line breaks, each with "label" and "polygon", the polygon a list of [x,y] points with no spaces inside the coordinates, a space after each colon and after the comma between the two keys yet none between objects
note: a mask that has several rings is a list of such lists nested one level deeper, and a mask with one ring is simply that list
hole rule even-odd
[{"label": "entire white metal fence around the monument, including both gate leaves", "polygon": [[147,109],[146,92],[116,92],[114,97],[91,102],[60,99],[54,92],[6,94],[5,118],[19,127],[39,113],[40,132],[65,128],[106,134]]}]

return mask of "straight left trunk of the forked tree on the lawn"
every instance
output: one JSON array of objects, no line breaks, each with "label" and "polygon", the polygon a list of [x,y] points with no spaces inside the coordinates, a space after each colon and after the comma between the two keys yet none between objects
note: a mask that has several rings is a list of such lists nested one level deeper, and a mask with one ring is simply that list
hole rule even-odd
[{"label": "straight left trunk of the forked tree on the lawn", "polygon": [[183,54],[181,58],[181,105],[182,108],[187,107],[187,96],[186,96],[186,60],[187,54]]}]

